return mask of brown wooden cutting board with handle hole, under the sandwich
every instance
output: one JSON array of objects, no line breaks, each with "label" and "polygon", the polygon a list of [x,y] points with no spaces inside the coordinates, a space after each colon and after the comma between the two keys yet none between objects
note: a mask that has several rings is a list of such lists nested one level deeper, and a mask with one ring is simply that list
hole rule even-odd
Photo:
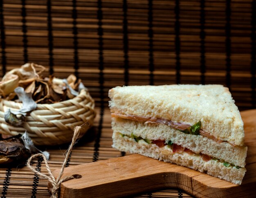
[{"label": "brown wooden cutting board with handle hole, under the sandwich", "polygon": [[[195,197],[256,197],[256,110],[241,115],[248,152],[247,172],[240,186],[135,154],[65,168],[63,176],[75,175],[77,179],[61,184],[60,198],[121,197],[170,187],[183,189]],[[54,176],[58,173],[55,170]]]}]

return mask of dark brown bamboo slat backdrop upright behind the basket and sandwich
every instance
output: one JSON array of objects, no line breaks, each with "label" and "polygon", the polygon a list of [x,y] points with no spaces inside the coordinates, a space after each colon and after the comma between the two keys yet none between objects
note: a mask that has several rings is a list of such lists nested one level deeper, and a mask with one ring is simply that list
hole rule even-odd
[{"label": "dark brown bamboo slat backdrop upright behind the basket and sandwich", "polygon": [[99,108],[97,153],[115,86],[223,84],[255,108],[255,24],[255,0],[0,0],[0,76],[35,62],[80,77]]}]

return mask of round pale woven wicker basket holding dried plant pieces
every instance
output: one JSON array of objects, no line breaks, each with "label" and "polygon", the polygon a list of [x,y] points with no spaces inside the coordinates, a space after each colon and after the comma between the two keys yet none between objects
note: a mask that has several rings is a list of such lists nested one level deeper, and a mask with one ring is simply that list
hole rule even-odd
[{"label": "round pale woven wicker basket holding dried plant pieces", "polygon": [[88,90],[81,90],[73,99],[53,104],[38,104],[36,110],[27,116],[23,127],[14,127],[4,120],[4,112],[9,108],[19,110],[22,103],[0,101],[0,133],[23,134],[27,130],[35,145],[59,145],[72,140],[73,129],[83,125],[83,135],[92,126],[94,117],[94,100]]}]

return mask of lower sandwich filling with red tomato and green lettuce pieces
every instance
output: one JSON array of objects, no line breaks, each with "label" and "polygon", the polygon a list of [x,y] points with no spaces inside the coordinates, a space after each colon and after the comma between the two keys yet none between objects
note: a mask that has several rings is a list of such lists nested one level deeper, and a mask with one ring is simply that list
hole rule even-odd
[{"label": "lower sandwich filling with red tomato and green lettuce pieces", "polygon": [[149,140],[149,139],[143,139],[140,136],[135,136],[134,134],[131,134],[129,136],[129,135],[126,135],[126,134],[121,134],[120,132],[118,132],[118,133],[124,139],[130,139],[130,140],[136,141],[137,143],[155,144],[160,148],[167,146],[171,150],[171,152],[173,152],[173,153],[186,152],[187,154],[192,155],[192,156],[200,156],[202,158],[202,160],[205,161],[205,162],[208,162],[210,160],[214,160],[214,161],[218,161],[218,162],[222,163],[225,167],[234,167],[236,169],[241,168],[240,166],[236,166],[234,164],[225,162],[223,159],[217,159],[217,158],[214,158],[214,157],[211,157],[209,155],[202,154],[202,153],[195,153],[195,152],[191,151],[188,148],[185,148],[185,147],[182,147],[181,145],[177,145],[177,144],[172,143],[172,141]]}]

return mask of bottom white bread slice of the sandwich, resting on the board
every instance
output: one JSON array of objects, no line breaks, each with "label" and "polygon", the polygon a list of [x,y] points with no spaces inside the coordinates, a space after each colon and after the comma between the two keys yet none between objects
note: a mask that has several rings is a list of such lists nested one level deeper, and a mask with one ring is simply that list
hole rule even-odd
[{"label": "bottom white bread slice of the sandwich, resting on the board", "polygon": [[214,160],[205,162],[200,156],[189,155],[186,152],[173,153],[167,146],[160,148],[155,144],[148,144],[143,140],[137,143],[132,138],[122,137],[118,132],[114,132],[112,138],[112,147],[120,151],[138,153],[164,162],[186,166],[200,172],[206,172],[211,176],[227,180],[237,185],[242,183],[246,172],[245,168],[237,169],[235,167],[225,167],[219,161]]}]

